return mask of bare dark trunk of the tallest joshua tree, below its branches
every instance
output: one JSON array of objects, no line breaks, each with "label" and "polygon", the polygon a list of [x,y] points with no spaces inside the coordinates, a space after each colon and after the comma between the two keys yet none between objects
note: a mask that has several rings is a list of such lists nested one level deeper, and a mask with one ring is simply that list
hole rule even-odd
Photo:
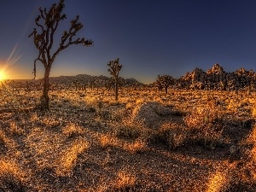
[{"label": "bare dark trunk of the tallest joshua tree, below its branches", "polygon": [[44,73],[44,90],[43,90],[43,96],[41,96],[41,110],[47,111],[49,110],[49,72],[50,67],[45,68]]}]

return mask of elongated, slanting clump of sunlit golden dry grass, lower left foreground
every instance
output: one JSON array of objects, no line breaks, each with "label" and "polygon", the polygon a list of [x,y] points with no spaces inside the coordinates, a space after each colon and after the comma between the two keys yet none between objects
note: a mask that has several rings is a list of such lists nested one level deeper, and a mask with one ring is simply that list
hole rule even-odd
[{"label": "elongated, slanting clump of sunlit golden dry grass, lower left foreground", "polygon": [[56,167],[57,175],[69,175],[76,163],[76,160],[78,159],[79,154],[83,153],[88,148],[90,148],[90,143],[83,138],[79,138],[74,141],[71,146],[64,149],[58,163],[59,166]]}]

